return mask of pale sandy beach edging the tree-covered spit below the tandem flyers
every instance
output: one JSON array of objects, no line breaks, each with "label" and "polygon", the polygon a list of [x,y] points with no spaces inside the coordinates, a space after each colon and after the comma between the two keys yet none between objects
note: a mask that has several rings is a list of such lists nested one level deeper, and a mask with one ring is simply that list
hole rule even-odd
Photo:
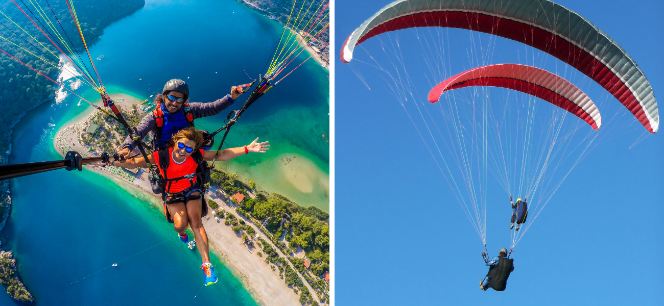
[{"label": "pale sandy beach edging the tree-covered spit below the tandem flyers", "polygon": [[[130,108],[132,103],[141,102],[140,99],[135,97],[118,93],[111,94],[110,97],[116,100],[116,105],[122,105],[125,109]],[[78,135],[86,130],[89,125],[88,118],[86,118],[82,121],[73,123],[72,125],[68,125],[67,127],[62,127],[54,137],[54,148],[56,148],[62,156],[64,156],[64,153],[68,150],[76,150],[83,156],[94,156],[94,153],[88,152],[78,139]],[[129,174],[126,170],[118,167],[84,166],[84,168],[86,168],[86,170],[94,170],[118,183],[124,183],[122,185],[127,188],[135,189],[145,195],[154,197],[156,199],[156,201],[153,201],[154,203],[161,202],[161,197],[151,191],[145,168],[138,170],[138,173],[135,175]],[[216,211],[224,209],[226,212],[235,215],[235,217],[242,218],[235,212],[234,205],[224,202],[222,198],[217,196],[217,193],[212,191],[216,191],[214,187],[207,190],[206,198],[212,199],[218,203],[219,207]],[[223,191],[220,192],[222,193]],[[228,199],[226,195],[223,196]],[[161,205],[154,205],[155,209],[159,209],[163,213]],[[230,225],[224,225],[224,219],[215,220],[214,215],[212,214],[212,209],[209,209],[209,211],[210,213],[203,218],[203,224],[208,234],[210,252],[214,252],[216,256],[224,260],[224,265],[228,266],[233,274],[242,281],[245,288],[250,292],[257,303],[266,306],[300,305],[299,293],[295,293],[291,287],[286,285],[284,280],[280,278],[278,270],[272,271],[270,264],[265,263],[264,257],[258,256],[257,252],[260,252],[260,249],[247,247],[241,238],[241,234],[233,232]],[[246,224],[252,225],[251,222],[247,222]],[[252,225],[252,227],[254,227],[256,232],[264,240],[270,241],[270,239],[264,233],[260,232],[260,230],[254,225]],[[256,238],[254,238],[254,240],[255,239]],[[273,247],[278,250],[276,246],[273,245]],[[193,250],[193,252],[197,252],[197,250]],[[295,256],[298,255],[303,256],[303,254],[296,254]],[[280,254],[280,256],[284,256],[284,254]],[[288,264],[292,267],[290,262]],[[309,286],[309,283],[307,283],[307,281],[304,281],[304,283],[309,288],[313,298],[319,302],[319,299],[315,296],[315,291]]]}]

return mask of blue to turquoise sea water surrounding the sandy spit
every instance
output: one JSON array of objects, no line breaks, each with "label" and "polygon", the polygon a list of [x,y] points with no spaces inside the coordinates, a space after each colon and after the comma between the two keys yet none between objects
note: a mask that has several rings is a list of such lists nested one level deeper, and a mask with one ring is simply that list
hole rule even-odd
[{"label": "blue to turquoise sea water surrounding the sandy spit", "polygon": [[[278,23],[235,1],[146,2],[106,28],[90,49],[93,58],[105,56],[95,64],[109,92],[147,99],[179,77],[189,83],[192,101],[214,101],[231,85],[250,81],[243,69],[258,75],[282,32]],[[318,137],[329,130],[328,76],[307,62],[254,103],[226,141],[246,144],[260,136],[274,150],[221,166],[254,179],[259,189],[327,211],[320,180],[329,176],[329,145]],[[98,99],[83,87],[76,92]],[[232,109],[242,102],[238,99]],[[86,103],[77,104],[78,98],[70,96],[60,105],[46,103],[30,111],[14,129],[10,163],[60,159],[52,148],[56,130],[90,111]],[[225,115],[197,126],[216,129]],[[308,192],[280,177],[286,171],[278,163],[284,155],[305,160],[306,167],[300,167],[319,179],[305,188]],[[201,288],[198,252],[175,239],[148,199],[94,172],[58,170],[13,179],[11,197],[3,249],[15,252],[37,305],[256,304],[215,256],[220,280]],[[110,266],[114,263],[118,266]],[[0,294],[0,305],[13,303]]]}]

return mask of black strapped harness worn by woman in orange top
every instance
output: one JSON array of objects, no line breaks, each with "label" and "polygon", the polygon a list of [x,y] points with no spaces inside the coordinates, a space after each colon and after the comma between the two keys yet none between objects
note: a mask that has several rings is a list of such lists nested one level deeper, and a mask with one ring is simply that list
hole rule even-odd
[{"label": "black strapped harness worn by woman in orange top", "polygon": [[[155,181],[159,184],[159,187],[161,187],[161,190],[163,191],[161,192],[161,199],[164,201],[164,217],[166,217],[166,220],[169,223],[174,223],[173,217],[171,217],[171,213],[169,213],[168,207],[166,207],[166,201],[169,199],[169,197],[170,199],[175,199],[184,203],[187,203],[193,199],[201,199],[201,217],[205,217],[208,213],[207,203],[205,203],[205,184],[210,182],[210,173],[212,167],[208,167],[207,162],[203,160],[203,154],[201,154],[201,151],[195,150],[191,154],[191,158],[193,158],[194,162],[197,164],[196,172],[193,174],[187,174],[186,176],[179,176],[177,178],[168,177],[167,169],[171,163],[171,154],[169,154],[169,149],[165,148],[159,150],[157,154],[159,154],[159,168],[163,170],[163,178],[159,177],[155,179]],[[179,195],[177,193],[173,194],[168,192],[168,190],[171,189],[171,184],[173,181],[179,181],[181,179],[189,179],[189,183],[191,184],[190,187],[193,187],[194,178],[196,178],[197,183],[201,185],[201,195],[190,195],[187,197],[186,195]]]}]

